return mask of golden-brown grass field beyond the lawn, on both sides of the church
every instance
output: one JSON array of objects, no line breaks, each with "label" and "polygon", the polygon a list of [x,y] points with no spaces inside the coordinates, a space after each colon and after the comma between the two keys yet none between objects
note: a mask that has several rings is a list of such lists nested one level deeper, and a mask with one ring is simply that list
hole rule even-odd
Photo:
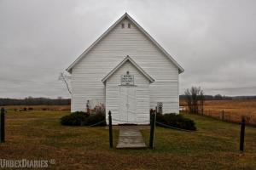
[{"label": "golden-brown grass field beyond the lawn, on both sides of the church", "polygon": [[[184,100],[180,105],[186,105]],[[5,106],[10,111],[23,110],[26,107],[33,111],[70,111],[70,105],[11,105]],[[224,112],[224,115],[223,115]],[[241,117],[245,116],[247,124],[256,126],[256,100],[207,100],[204,105],[204,115],[227,122],[241,122]]]}]

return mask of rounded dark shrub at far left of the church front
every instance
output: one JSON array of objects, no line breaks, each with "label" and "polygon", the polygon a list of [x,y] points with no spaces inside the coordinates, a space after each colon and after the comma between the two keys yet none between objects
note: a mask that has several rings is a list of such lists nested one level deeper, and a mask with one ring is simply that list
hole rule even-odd
[{"label": "rounded dark shrub at far left of the church front", "polygon": [[89,116],[84,111],[76,111],[67,116],[61,117],[61,125],[80,126],[82,122]]}]

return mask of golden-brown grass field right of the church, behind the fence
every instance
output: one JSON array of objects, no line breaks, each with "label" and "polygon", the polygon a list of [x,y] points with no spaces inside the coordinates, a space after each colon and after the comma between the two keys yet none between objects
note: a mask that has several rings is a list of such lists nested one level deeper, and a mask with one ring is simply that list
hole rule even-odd
[{"label": "golden-brown grass field right of the church, behind the fence", "polygon": [[[180,102],[186,105],[185,101]],[[241,122],[241,116],[245,116],[247,124],[256,125],[256,100],[207,100],[204,105],[204,115],[222,119],[229,122]]]}]

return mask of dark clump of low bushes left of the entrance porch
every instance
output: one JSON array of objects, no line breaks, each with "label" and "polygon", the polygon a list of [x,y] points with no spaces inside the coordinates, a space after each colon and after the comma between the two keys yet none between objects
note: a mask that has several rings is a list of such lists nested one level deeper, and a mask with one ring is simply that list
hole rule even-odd
[{"label": "dark clump of low bushes left of the entrance porch", "polygon": [[[102,122],[103,121],[103,122]],[[101,122],[96,124],[97,122]],[[89,115],[84,111],[76,111],[70,115],[61,117],[61,125],[67,126],[90,126],[96,124],[96,126],[105,126],[105,115],[104,114],[93,114]]]}]

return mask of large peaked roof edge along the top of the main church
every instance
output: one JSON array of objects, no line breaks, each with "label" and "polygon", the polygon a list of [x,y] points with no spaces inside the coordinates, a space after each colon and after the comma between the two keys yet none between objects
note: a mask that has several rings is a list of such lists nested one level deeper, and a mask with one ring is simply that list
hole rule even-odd
[{"label": "large peaked roof edge along the top of the main church", "polygon": [[183,67],[182,67],[181,65],[178,65],[177,61],[176,61],[175,59],[173,59],[172,56],[171,56],[170,54],[168,54],[168,53],[166,52],[166,50],[165,50],[164,48],[162,48],[162,47],[160,46],[160,44],[159,44],[158,42],[156,42],[156,41],[154,40],[154,38],[151,37],[151,36],[148,34],[148,32],[143,29],[142,26],[139,26],[139,24],[138,24],[135,20],[133,20],[133,19],[131,18],[131,16],[130,16],[129,14],[127,14],[127,13],[125,13],[123,16],[121,16],[121,18],[119,18],[119,20],[117,20],[112,26],[110,26],[110,27],[108,28],[108,30],[105,31],[105,32],[102,34],[101,37],[99,37],[95,42],[93,42],[93,43],[90,45],[90,47],[87,48],[87,49],[79,56],[78,59],[76,59],[71,65],[69,65],[69,67],[66,69],[66,71],[68,71],[68,72],[71,73],[73,66],[76,65],[77,63],[79,63],[79,61],[80,61],[81,59],[83,59],[86,54],[88,54],[88,52],[90,51],[91,48],[93,48],[98,42],[100,42],[103,37],[106,37],[106,36],[108,35],[108,32],[109,32],[109,31],[112,31],[113,28],[114,28],[115,26],[117,26],[117,25],[119,24],[119,22],[120,22],[121,20],[125,19],[125,18],[128,19],[128,20],[131,20],[131,22],[132,22],[135,26],[137,26],[137,28],[138,28],[140,31],[142,31],[143,34],[144,34],[146,37],[148,37],[148,39],[149,39],[151,42],[153,42],[154,45],[155,45],[157,48],[159,48],[160,51],[161,51],[163,54],[166,54],[166,56],[167,56],[169,59],[171,59],[172,63],[177,66],[179,73],[182,73],[182,72],[184,71]]}]

